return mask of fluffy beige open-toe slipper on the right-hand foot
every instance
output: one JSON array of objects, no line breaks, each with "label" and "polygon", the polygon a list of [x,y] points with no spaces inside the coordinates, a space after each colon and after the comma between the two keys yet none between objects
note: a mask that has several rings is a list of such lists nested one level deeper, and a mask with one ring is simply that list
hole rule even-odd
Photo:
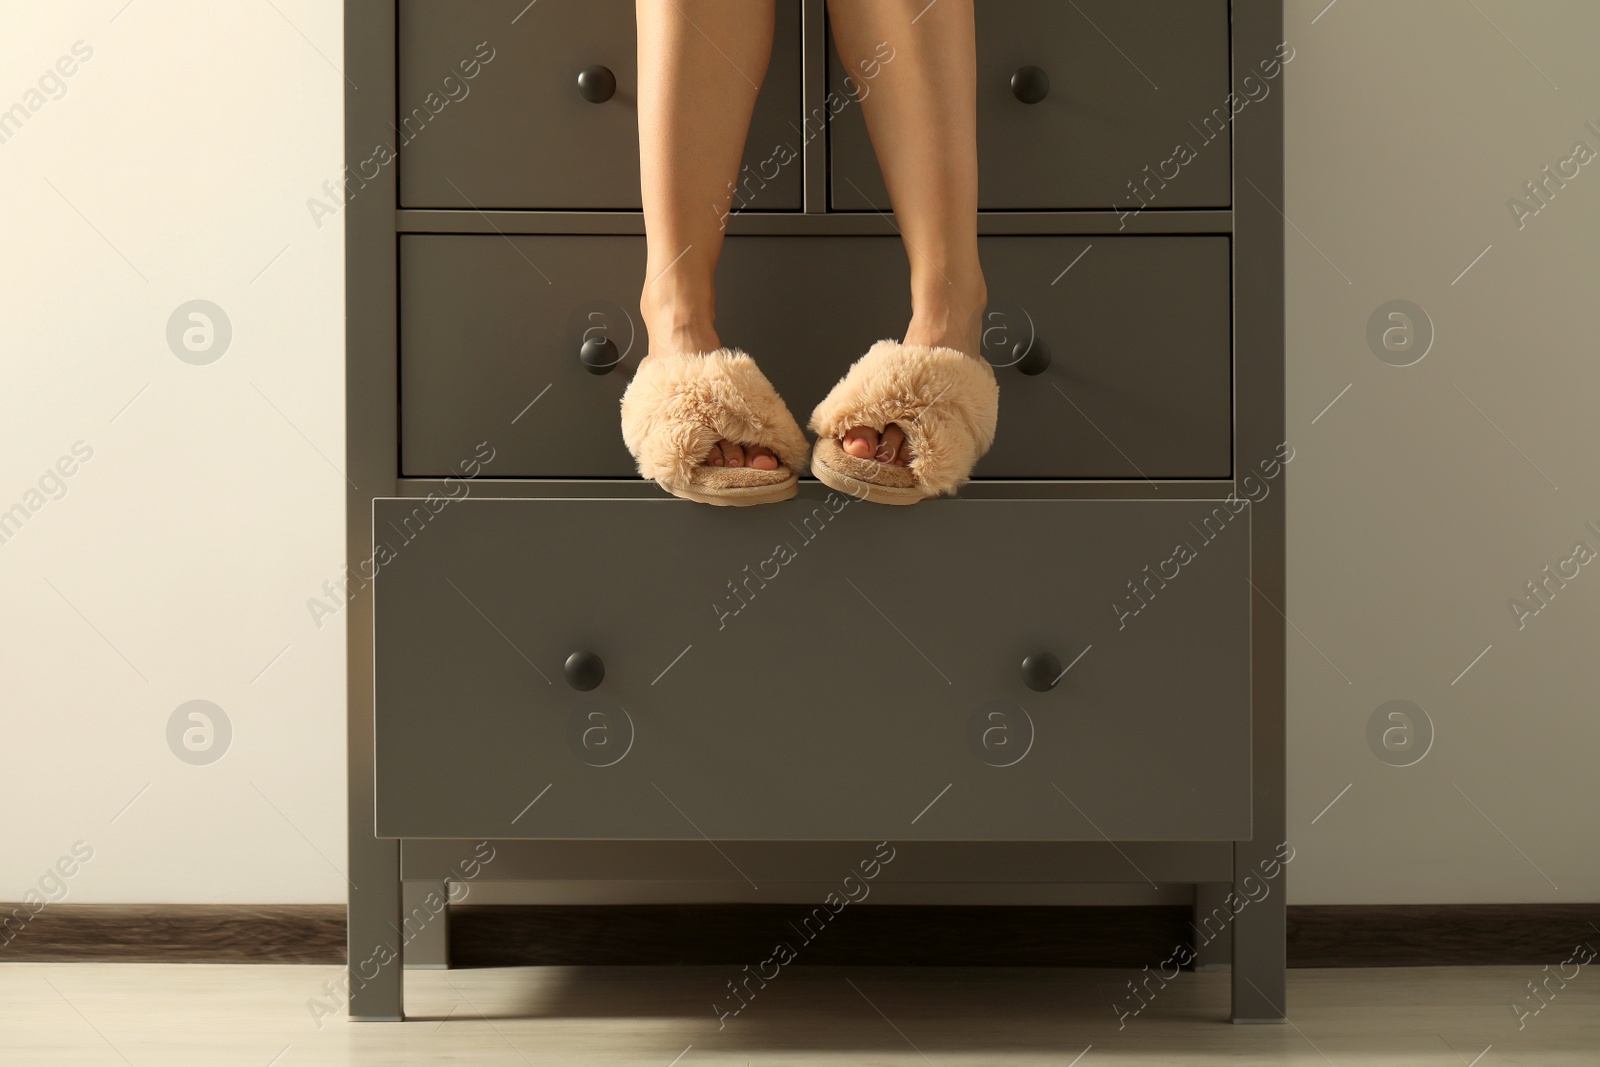
[{"label": "fluffy beige open-toe slipper on the right-hand foot", "polygon": [[[965,483],[989,451],[1000,414],[1000,386],[986,360],[955,349],[878,341],[811,413],[818,435],[811,474],[877,504],[915,504]],[[907,467],[858,459],[840,440],[854,426],[906,432]]]}]

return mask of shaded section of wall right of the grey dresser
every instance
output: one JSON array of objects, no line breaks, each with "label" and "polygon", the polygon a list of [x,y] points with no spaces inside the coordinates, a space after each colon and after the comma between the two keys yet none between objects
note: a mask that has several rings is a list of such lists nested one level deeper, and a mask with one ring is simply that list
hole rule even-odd
[{"label": "shaded section of wall right of the grey dresser", "polygon": [[[1290,901],[1600,899],[1600,563],[1525,629],[1507,606],[1600,550],[1600,160],[1523,229],[1507,208],[1574,141],[1600,152],[1600,5],[1285,21]],[[1413,366],[1368,349],[1390,299],[1434,322]],[[1368,749],[1390,699],[1434,723],[1414,766]]]}]

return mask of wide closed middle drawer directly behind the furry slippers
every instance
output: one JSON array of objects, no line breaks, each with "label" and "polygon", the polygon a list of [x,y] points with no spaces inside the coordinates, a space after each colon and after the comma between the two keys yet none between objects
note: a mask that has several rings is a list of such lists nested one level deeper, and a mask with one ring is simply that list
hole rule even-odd
[{"label": "wide closed middle drawer directly behind the furry slippers", "polygon": [[[976,477],[1230,477],[1229,238],[979,250],[1000,426]],[[491,440],[491,477],[637,477],[618,405],[645,349],[643,272],[638,237],[402,237],[402,470],[451,474]],[[730,237],[717,325],[805,424],[861,352],[901,336],[907,285],[898,237]],[[621,363],[590,373],[586,339]],[[1042,373],[1013,355],[1029,339]]]}]

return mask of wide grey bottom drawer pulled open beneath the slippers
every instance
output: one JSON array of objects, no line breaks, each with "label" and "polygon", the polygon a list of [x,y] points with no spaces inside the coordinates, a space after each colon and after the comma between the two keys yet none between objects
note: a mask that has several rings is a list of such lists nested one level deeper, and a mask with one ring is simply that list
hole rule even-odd
[{"label": "wide grey bottom drawer pulled open beneath the slippers", "polygon": [[813,485],[373,517],[379,837],[1251,833],[1248,510]]}]

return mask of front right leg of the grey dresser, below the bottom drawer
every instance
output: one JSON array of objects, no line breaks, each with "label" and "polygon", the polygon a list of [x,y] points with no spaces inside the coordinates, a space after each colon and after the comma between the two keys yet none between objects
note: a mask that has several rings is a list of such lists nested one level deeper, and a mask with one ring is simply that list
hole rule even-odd
[{"label": "front right leg of the grey dresser, below the bottom drawer", "polygon": [[1275,845],[1234,845],[1234,1022],[1283,1022],[1288,1011],[1285,973],[1285,875]]}]

